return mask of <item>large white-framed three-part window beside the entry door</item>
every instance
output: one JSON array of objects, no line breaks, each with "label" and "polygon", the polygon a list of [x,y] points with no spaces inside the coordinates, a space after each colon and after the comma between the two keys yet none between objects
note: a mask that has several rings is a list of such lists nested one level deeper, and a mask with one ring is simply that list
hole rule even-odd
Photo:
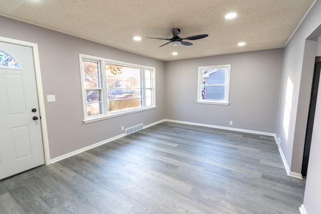
[{"label": "large white-framed three-part window beside the entry door", "polygon": [[84,122],[155,108],[155,68],[79,54]]}]

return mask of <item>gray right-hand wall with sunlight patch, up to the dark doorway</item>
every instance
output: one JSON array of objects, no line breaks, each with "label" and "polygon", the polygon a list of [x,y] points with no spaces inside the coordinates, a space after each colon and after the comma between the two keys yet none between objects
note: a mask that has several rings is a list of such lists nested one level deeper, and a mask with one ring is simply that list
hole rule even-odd
[{"label": "gray right-hand wall with sunlight patch, up to the dark doorway", "polygon": [[[290,171],[301,173],[305,130],[317,36],[305,39],[320,25],[317,1],[284,48],[276,135]],[[294,102],[294,95],[296,100]]]}]

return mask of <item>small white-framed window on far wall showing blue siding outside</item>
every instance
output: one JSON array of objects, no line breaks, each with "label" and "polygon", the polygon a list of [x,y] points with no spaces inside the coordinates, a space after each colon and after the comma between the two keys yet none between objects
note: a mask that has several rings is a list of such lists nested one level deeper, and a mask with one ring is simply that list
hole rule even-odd
[{"label": "small white-framed window on far wall showing blue siding outside", "polygon": [[199,67],[198,103],[229,104],[231,65]]}]

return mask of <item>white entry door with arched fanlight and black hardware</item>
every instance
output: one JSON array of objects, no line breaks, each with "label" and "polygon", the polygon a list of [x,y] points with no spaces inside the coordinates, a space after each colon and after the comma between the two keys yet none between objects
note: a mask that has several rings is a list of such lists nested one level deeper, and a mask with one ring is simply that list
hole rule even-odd
[{"label": "white entry door with arched fanlight and black hardware", "polygon": [[0,179],[44,163],[33,50],[0,42]]}]

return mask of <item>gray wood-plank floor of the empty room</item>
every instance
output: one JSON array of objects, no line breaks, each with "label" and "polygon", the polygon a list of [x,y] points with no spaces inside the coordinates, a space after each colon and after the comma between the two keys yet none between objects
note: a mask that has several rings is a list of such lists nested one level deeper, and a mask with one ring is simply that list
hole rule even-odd
[{"label": "gray wood-plank floor of the empty room", "polygon": [[273,137],[163,122],[0,181],[0,213],[293,214],[304,186]]}]

